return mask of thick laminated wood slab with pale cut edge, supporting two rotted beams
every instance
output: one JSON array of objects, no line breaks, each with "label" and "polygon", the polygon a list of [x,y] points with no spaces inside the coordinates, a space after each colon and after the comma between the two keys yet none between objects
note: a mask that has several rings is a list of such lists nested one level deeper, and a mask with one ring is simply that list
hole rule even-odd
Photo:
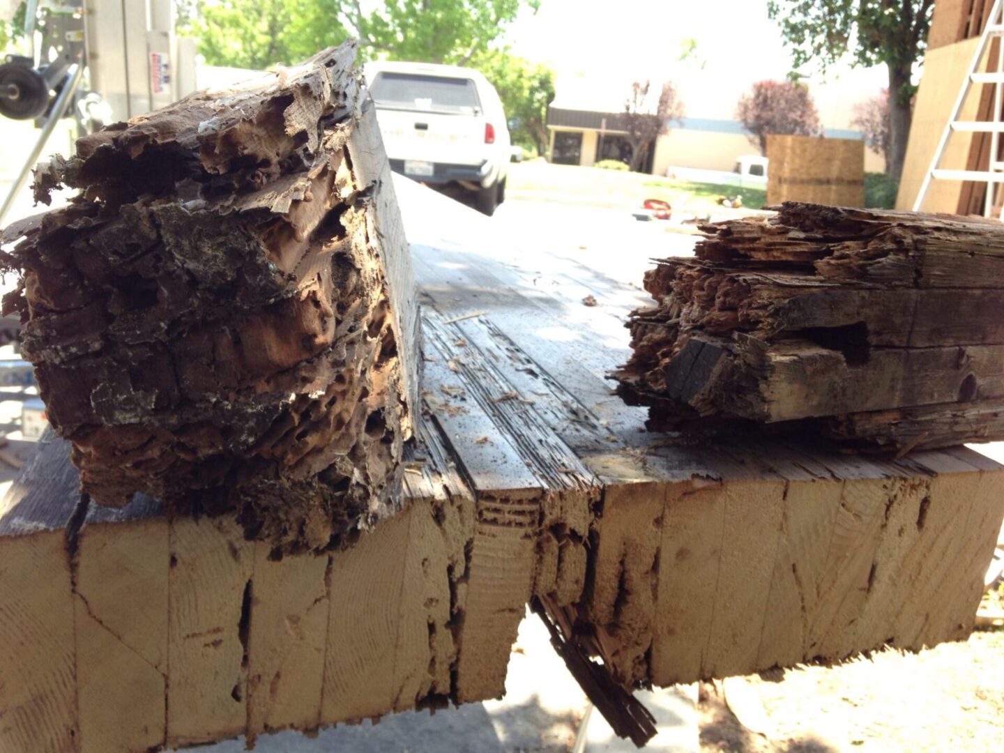
[{"label": "thick laminated wood slab with pale cut edge, supporting two rotted beams", "polygon": [[425,352],[404,511],[274,561],[226,517],[80,504],[66,444],[45,439],[0,505],[0,752],[497,697],[534,595],[631,686],[969,634],[1001,466],[650,435],[603,380],[640,289],[397,188]]}]

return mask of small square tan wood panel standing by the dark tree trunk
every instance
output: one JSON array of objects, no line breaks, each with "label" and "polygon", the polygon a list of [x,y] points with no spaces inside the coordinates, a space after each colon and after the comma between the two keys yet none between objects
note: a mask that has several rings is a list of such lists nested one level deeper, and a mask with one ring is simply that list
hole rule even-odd
[{"label": "small square tan wood panel standing by the dark tree trunk", "polygon": [[767,203],[864,206],[864,142],[768,136]]}]

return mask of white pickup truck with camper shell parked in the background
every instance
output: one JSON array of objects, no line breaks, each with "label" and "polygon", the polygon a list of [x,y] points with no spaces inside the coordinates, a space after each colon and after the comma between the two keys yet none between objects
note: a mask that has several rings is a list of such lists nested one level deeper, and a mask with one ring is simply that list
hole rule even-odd
[{"label": "white pickup truck with camper shell parked in the background", "polygon": [[391,169],[445,192],[473,193],[486,215],[505,199],[510,140],[495,87],[454,65],[363,68]]}]

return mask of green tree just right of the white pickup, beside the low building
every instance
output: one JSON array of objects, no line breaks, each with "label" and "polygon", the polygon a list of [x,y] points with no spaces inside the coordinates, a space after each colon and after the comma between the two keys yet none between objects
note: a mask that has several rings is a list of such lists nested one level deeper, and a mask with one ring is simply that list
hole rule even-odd
[{"label": "green tree just right of the white pickup, beside the low building", "polygon": [[470,64],[485,74],[502,98],[506,117],[516,120],[513,143],[547,151],[547,105],[554,100],[554,71],[508,52],[475,55]]}]

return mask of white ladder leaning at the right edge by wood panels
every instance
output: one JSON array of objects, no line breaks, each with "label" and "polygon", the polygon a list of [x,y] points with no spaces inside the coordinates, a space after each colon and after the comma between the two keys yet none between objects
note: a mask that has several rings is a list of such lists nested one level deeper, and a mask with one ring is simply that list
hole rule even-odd
[{"label": "white ladder leaning at the right edge by wood panels", "polygon": [[[997,68],[994,71],[981,72],[980,63],[984,54],[990,49],[990,40],[994,37],[1002,38],[997,45]],[[966,101],[973,84],[994,84],[994,110],[993,116],[989,120],[960,120],[959,112]],[[938,148],[935,150],[934,158],[931,160],[931,167],[924,176],[921,190],[917,194],[914,202],[914,211],[920,212],[927,198],[928,189],[932,180],[939,181],[975,181],[987,184],[987,193],[983,201],[983,216],[991,217],[993,214],[995,188],[1004,185],[1004,161],[999,159],[1001,147],[1001,134],[1004,133],[1004,122],[1001,121],[1001,105],[1004,102],[1004,0],[994,0],[994,5],[987,17],[987,22],[980,34],[980,42],[976,45],[976,52],[973,60],[969,64],[966,79],[962,84],[955,106],[952,108],[952,115],[949,117],[945,130],[942,132]],[[945,170],[939,168],[941,159],[945,153],[949,137],[953,133],[965,132],[970,134],[990,134],[990,164],[988,170]],[[1002,209],[1004,214],[1004,209]],[[1004,219],[998,216],[997,219]]]}]

